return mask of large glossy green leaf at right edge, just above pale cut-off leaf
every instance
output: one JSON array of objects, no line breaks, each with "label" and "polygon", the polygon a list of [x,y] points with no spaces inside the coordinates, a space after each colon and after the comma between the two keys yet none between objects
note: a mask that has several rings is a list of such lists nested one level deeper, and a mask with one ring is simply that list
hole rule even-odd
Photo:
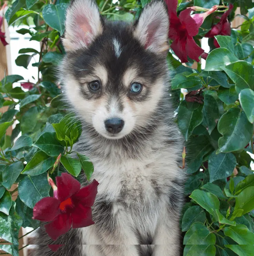
[{"label": "large glossy green leaf at right edge, just above pale cut-off leaf", "polygon": [[223,70],[235,83],[235,89],[240,93],[243,89],[254,90],[254,67],[246,61],[237,61],[223,67]]}]

